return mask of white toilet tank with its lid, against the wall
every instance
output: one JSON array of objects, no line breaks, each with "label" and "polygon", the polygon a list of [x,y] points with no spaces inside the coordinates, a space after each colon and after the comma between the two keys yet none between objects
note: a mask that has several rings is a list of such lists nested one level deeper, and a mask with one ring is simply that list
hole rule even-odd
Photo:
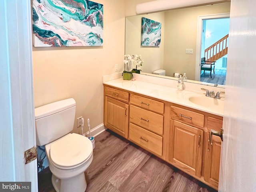
[{"label": "white toilet tank with its lid, against the wall", "polygon": [[46,145],[73,130],[76,101],[73,98],[35,108],[36,144]]}]

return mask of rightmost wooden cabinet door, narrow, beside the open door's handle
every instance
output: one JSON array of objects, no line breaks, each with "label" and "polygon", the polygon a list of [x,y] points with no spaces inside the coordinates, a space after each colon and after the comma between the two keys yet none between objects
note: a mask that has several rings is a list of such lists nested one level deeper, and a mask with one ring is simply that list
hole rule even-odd
[{"label": "rightmost wooden cabinet door, narrow, beside the open door's handle", "polygon": [[207,133],[208,146],[204,162],[204,180],[215,188],[218,188],[222,141],[220,137],[213,135],[211,145],[209,135],[210,133]]}]

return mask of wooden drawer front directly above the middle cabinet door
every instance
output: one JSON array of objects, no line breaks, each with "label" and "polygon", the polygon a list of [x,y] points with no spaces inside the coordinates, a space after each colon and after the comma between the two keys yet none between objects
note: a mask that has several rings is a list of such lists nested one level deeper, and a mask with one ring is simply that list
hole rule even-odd
[{"label": "wooden drawer front directly above the middle cabinet door", "polygon": [[204,115],[200,113],[171,106],[171,117],[172,119],[181,120],[185,123],[190,123],[195,126],[204,127]]}]

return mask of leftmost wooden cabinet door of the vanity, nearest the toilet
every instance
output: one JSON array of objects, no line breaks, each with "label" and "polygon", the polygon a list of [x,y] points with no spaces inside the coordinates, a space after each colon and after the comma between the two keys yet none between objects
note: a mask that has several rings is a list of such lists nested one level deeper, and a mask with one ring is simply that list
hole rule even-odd
[{"label": "leftmost wooden cabinet door of the vanity, nearest the toilet", "polygon": [[104,125],[107,128],[124,138],[128,138],[128,117],[128,104],[108,96],[105,97]]}]

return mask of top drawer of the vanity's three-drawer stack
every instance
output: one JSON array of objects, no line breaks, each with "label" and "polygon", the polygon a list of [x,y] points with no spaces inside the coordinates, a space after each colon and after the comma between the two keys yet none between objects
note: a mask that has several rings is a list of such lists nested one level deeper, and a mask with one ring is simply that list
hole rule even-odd
[{"label": "top drawer of the vanity's three-drawer stack", "polygon": [[155,100],[148,99],[148,98],[145,98],[142,96],[131,94],[130,102],[131,102],[131,104],[140,106],[145,109],[152,110],[154,112],[158,112],[158,113],[162,113],[162,114],[164,113],[164,103],[159,102],[159,101],[155,101]]}]

